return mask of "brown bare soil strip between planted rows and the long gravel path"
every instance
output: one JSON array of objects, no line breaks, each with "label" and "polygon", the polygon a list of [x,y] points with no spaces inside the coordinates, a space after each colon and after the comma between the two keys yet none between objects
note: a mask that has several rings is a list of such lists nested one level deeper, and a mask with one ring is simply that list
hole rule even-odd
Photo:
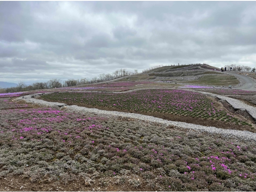
[{"label": "brown bare soil strip between planted rows and the long gravel path", "polygon": [[[58,100],[47,100],[50,102],[62,102]],[[77,105],[87,108],[97,108],[100,110],[107,110],[107,111],[118,111],[118,112],[128,112],[128,113],[136,113],[136,114],[142,114],[142,115],[148,115],[153,116],[157,118],[162,118],[165,120],[170,121],[177,121],[177,122],[186,122],[186,123],[192,123],[197,125],[203,125],[203,126],[214,126],[216,128],[222,128],[222,129],[232,129],[232,130],[246,130],[255,133],[256,130],[248,125],[238,125],[233,122],[222,122],[219,120],[211,120],[211,119],[204,119],[204,118],[195,118],[191,116],[182,116],[182,115],[175,115],[170,113],[160,113],[160,112],[141,112],[141,111],[132,111],[132,110],[124,110],[124,109],[118,109],[118,108],[108,108],[103,106],[91,106],[88,104],[78,104],[73,102],[65,102],[67,105]],[[230,112],[230,111],[229,111]],[[230,112],[232,113],[232,112]]]}]

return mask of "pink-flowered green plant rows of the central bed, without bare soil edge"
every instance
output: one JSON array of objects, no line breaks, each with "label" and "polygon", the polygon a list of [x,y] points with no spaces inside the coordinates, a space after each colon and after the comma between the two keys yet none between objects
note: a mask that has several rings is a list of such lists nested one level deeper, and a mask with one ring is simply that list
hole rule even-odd
[{"label": "pink-flowered green plant rows of the central bed, without bare soil edge", "polygon": [[179,114],[236,124],[248,124],[223,110],[218,110],[212,100],[204,94],[188,90],[152,89],[138,90],[128,93],[53,93],[43,95],[42,99],[74,104],[87,104],[89,106],[104,106],[134,112],[160,112]]}]

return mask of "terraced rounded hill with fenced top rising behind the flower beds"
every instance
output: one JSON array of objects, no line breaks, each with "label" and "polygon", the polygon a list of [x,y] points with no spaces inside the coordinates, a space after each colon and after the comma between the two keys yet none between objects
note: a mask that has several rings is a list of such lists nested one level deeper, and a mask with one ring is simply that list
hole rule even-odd
[{"label": "terraced rounded hill with fenced top rising behind the flower beds", "polygon": [[233,76],[220,72],[220,69],[214,66],[204,64],[163,66],[123,78],[120,81],[138,80],[184,82],[216,86],[239,84],[239,81]]}]

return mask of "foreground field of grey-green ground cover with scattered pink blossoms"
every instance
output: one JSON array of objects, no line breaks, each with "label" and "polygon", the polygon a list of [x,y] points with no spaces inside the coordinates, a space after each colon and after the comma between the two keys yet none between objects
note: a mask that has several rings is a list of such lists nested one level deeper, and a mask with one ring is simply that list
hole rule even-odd
[{"label": "foreground field of grey-green ground cover with scattered pink blossoms", "polygon": [[23,181],[66,186],[82,178],[76,190],[107,188],[111,180],[118,190],[125,185],[133,190],[255,191],[256,148],[216,135],[54,108],[0,110],[0,181],[18,175]]}]

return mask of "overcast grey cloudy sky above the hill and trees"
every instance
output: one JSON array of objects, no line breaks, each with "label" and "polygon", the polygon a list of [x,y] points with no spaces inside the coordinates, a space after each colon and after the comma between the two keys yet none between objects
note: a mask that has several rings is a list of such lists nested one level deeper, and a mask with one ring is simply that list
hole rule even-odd
[{"label": "overcast grey cloudy sky above the hill and trees", "polygon": [[256,2],[0,2],[0,81],[256,66]]}]

